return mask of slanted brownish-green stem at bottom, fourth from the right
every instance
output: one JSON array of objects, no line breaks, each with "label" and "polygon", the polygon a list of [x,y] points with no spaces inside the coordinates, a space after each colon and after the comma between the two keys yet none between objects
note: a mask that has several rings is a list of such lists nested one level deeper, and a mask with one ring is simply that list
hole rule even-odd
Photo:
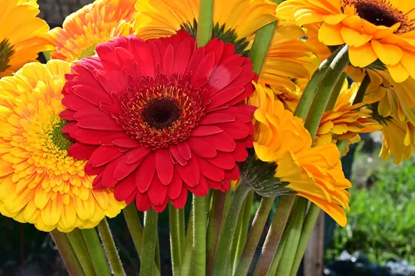
[{"label": "slanted brownish-green stem at bottom, fourth from the right", "polygon": [[246,240],[245,248],[243,248],[237,270],[234,273],[235,275],[243,276],[248,274],[250,263],[255,255],[255,250],[258,247],[259,239],[261,239],[262,232],[264,231],[274,201],[275,196],[263,197],[261,199],[257,213],[252,221],[252,226],[249,230],[248,239]]}]

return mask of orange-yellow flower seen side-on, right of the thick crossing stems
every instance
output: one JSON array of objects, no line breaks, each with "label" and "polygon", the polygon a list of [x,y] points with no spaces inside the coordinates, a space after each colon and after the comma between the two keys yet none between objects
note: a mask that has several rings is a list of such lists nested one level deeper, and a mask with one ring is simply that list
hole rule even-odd
[{"label": "orange-yellow flower seen side-on, right of the thick crossing stems", "polygon": [[371,118],[371,111],[362,108],[365,104],[353,104],[359,84],[353,82],[350,89],[348,86],[349,83],[345,80],[333,110],[323,114],[314,140],[315,145],[338,140],[356,140],[359,134],[382,129],[382,125]]}]

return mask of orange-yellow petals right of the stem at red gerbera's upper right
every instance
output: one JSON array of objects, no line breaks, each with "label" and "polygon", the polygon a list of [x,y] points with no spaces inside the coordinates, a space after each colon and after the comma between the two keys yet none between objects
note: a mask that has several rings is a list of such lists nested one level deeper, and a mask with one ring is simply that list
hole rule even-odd
[{"label": "orange-yellow petals right of the stem at red gerbera's upper right", "polygon": [[310,78],[314,66],[310,59],[311,48],[300,39],[304,35],[304,30],[295,24],[284,23],[275,28],[259,83],[274,86],[280,91],[295,91],[297,87],[293,79]]}]

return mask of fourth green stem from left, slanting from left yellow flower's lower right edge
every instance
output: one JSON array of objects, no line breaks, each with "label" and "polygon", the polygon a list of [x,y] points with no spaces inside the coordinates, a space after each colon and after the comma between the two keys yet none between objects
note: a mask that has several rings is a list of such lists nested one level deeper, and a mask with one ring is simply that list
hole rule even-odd
[{"label": "fourth green stem from left, slanting from left yellow flower's lower right edge", "polygon": [[100,232],[102,244],[104,245],[105,252],[107,252],[109,264],[111,264],[113,275],[124,276],[124,268],[122,268],[120,256],[118,255],[116,243],[113,240],[107,219],[102,219],[102,221],[98,224],[98,232]]}]

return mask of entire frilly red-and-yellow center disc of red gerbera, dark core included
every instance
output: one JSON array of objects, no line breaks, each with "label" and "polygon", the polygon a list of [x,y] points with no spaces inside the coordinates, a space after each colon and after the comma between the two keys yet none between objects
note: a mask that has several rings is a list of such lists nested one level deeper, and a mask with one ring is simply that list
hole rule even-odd
[{"label": "entire frilly red-and-yellow center disc of red gerbera, dark core included", "polygon": [[187,139],[205,115],[201,93],[189,74],[142,77],[122,93],[118,122],[145,147],[169,147]]}]

